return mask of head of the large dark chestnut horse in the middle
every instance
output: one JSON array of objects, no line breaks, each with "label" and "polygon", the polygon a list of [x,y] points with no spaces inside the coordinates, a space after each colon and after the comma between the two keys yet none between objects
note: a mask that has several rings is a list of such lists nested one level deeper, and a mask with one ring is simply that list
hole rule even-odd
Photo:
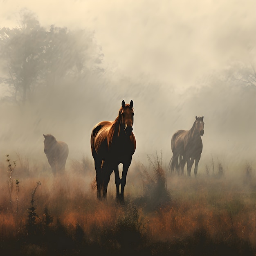
[{"label": "head of the large dark chestnut horse in the middle", "polygon": [[132,135],[132,125],[133,125],[133,101],[130,104],[126,104],[124,100],[122,101],[122,107],[120,109],[121,123],[123,124],[124,131],[127,136]]}]

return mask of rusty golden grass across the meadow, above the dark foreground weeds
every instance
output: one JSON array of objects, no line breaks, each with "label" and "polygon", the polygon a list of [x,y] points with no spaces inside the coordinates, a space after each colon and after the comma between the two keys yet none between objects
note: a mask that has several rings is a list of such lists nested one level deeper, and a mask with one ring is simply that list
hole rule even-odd
[{"label": "rusty golden grass across the meadow, above the dark foreground weeds", "polygon": [[[127,184],[127,191],[134,191],[125,194],[128,201],[125,205],[115,201],[115,195],[111,192],[115,191],[114,188],[110,188],[108,200],[98,201],[96,191],[90,189],[94,171],[83,173],[81,170],[77,171],[78,162],[75,166],[76,171],[70,168],[65,175],[56,178],[50,172],[47,175],[43,174],[41,179],[38,173],[36,177],[27,177],[27,175],[19,177],[18,212],[16,192],[13,190],[12,209],[10,209],[7,182],[3,179],[0,184],[0,238],[13,238],[20,229],[25,229],[31,191],[40,180],[41,185],[38,186],[34,198],[38,221],[43,219],[44,209],[47,206],[49,215],[54,220],[53,227],[57,221],[69,229],[72,227],[72,230],[79,225],[85,236],[92,240],[97,240],[97,236],[106,230],[117,229],[118,221],[130,214],[127,205],[132,204],[138,209],[139,222],[143,226],[143,231],[140,232],[141,234],[144,232],[150,241],[174,241],[177,238],[182,240],[200,233],[214,243],[219,243],[236,236],[241,240],[249,241],[255,250],[256,180],[254,177],[245,184],[240,181],[241,179],[230,177],[199,175],[195,179],[174,175],[167,178],[171,200],[149,211],[145,204],[141,204],[141,201],[131,195],[141,194],[142,180],[136,181],[136,184],[141,184],[138,189],[140,192],[137,192],[137,188],[132,184]],[[4,173],[3,170],[1,172]],[[132,176],[136,175],[132,174]],[[139,179],[142,177],[139,176]],[[110,182],[110,186],[112,185]]]}]

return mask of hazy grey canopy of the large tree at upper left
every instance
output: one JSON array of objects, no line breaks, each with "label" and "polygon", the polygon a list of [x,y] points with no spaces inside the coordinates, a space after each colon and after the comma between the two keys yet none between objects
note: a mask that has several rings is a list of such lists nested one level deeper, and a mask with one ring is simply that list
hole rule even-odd
[{"label": "hazy grey canopy of the large tree at upper left", "polygon": [[59,78],[102,71],[103,54],[92,32],[54,25],[47,29],[27,10],[20,17],[18,27],[0,28],[0,82],[8,87],[11,99],[25,102]]}]

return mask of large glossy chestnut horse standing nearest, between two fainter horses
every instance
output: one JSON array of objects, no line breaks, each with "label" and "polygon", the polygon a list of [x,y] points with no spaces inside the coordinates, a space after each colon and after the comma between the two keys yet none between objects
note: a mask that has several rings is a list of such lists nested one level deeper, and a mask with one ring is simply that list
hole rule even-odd
[{"label": "large glossy chestnut horse standing nearest, between two fainter horses", "polygon": [[[132,100],[130,104],[126,104],[123,100],[115,121],[102,121],[92,129],[91,149],[99,199],[106,198],[110,175],[114,171],[117,199],[124,200],[126,175],[136,148],[135,136],[132,133],[134,115],[132,106]],[[121,178],[118,170],[120,163],[123,164]]]}]

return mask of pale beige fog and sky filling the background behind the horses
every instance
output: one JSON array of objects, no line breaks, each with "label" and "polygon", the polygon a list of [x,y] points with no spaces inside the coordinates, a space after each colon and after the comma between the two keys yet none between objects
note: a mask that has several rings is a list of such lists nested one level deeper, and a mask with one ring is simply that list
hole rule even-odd
[{"label": "pale beige fog and sky filling the background behind the horses", "polygon": [[[121,101],[132,99],[135,160],[162,150],[167,165],[173,133],[190,129],[195,116],[203,115],[198,173],[212,159],[227,171],[246,162],[255,168],[255,1],[5,0],[1,5],[0,28],[20,26],[26,8],[42,27],[83,29],[88,39],[74,37],[87,45],[82,75],[38,86],[25,103],[6,98],[11,89],[1,84],[0,161],[17,152],[46,161],[43,133],[67,142],[69,159],[92,159],[93,126],[114,120]],[[7,67],[1,65],[1,77],[9,77]]]}]

